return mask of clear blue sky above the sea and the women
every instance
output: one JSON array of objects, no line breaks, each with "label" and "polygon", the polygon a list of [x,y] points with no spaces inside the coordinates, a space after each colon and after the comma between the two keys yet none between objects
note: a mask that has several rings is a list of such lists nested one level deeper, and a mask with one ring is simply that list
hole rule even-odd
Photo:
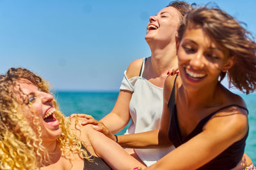
[{"label": "clear blue sky above the sea and the women", "polygon": [[[214,2],[255,36],[255,0]],[[117,91],[129,63],[150,56],[144,39],[148,17],[168,3],[0,0],[0,73],[26,67],[55,90]]]}]

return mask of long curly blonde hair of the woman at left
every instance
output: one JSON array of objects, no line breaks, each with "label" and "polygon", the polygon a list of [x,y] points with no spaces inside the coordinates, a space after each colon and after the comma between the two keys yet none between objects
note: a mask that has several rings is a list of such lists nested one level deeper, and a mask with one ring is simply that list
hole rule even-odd
[{"label": "long curly blonde hair of the woman at left", "polygon": [[[6,74],[0,75],[0,169],[39,169],[44,166],[43,161],[51,163],[42,146],[42,131],[36,112],[33,111],[31,115],[33,129],[22,114],[22,106],[29,106],[29,101],[19,103],[15,97],[17,94],[13,87],[21,78],[31,81],[43,92],[51,93],[49,83],[28,69],[10,68]],[[62,132],[57,142],[64,157],[71,160],[71,155],[77,153],[82,159],[90,160],[81,141],[70,130],[70,122],[61,113],[55,99],[52,104],[56,109],[54,115],[60,122]]]}]

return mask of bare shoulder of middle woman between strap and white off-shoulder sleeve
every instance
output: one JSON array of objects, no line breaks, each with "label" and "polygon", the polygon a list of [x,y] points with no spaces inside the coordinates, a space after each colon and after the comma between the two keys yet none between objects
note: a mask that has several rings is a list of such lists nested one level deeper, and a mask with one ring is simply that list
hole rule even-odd
[{"label": "bare shoulder of middle woman between strap and white off-shoulder sleeve", "polygon": [[127,78],[139,76],[142,63],[143,63],[143,59],[137,59],[137,60],[132,61],[126,71]]}]

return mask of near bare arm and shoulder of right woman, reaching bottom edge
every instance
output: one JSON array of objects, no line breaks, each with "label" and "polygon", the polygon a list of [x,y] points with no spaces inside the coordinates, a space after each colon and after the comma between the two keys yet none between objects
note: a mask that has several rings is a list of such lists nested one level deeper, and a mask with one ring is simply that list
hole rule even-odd
[{"label": "near bare arm and shoulder of right woman, reaching bottom edge", "polygon": [[214,117],[205,125],[203,132],[148,169],[197,169],[243,138],[247,130],[247,117],[243,113]]}]

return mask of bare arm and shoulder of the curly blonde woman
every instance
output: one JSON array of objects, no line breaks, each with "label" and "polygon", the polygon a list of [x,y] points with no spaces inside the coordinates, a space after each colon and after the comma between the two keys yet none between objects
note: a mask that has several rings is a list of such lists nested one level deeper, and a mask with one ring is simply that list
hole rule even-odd
[{"label": "bare arm and shoulder of the curly blonde woman", "polygon": [[[81,121],[82,120],[80,119],[79,124],[81,124]],[[95,131],[92,126],[93,125],[91,124],[76,126],[76,130],[73,130],[77,137],[86,143],[86,148],[92,155],[97,155],[104,159],[112,169],[145,167],[138,160],[125,152],[125,150],[115,143],[115,141],[109,139],[101,132]]]}]

